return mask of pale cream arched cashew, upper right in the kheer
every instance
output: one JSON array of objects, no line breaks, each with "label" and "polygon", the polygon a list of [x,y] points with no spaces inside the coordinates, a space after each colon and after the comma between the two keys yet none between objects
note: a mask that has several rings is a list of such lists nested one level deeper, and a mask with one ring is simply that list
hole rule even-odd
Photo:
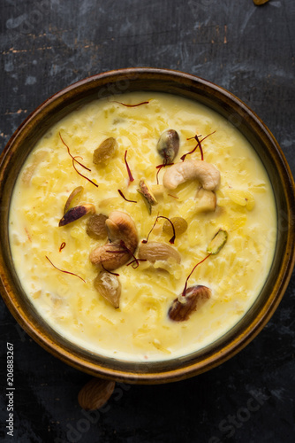
[{"label": "pale cream arched cashew, upper right in the kheer", "polygon": [[186,160],[176,163],[163,175],[163,185],[174,190],[178,184],[186,180],[199,180],[204,190],[215,190],[220,181],[220,173],[216,167],[203,160]]}]

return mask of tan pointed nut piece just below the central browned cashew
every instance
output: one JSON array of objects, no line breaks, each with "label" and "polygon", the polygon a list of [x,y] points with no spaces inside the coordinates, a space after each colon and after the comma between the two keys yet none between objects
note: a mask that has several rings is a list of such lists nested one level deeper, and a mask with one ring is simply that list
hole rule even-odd
[{"label": "tan pointed nut piece just below the central browned cashew", "polygon": [[119,307],[121,284],[117,276],[107,271],[101,271],[95,277],[95,289],[104,299],[110,301],[113,307]]}]

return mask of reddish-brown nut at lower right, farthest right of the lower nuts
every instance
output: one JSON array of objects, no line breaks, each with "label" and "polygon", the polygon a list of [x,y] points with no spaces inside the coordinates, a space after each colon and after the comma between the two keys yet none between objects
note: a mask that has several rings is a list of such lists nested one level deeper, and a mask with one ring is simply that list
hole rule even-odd
[{"label": "reddish-brown nut at lower right, farthest right of the lower nuts", "polygon": [[211,297],[211,291],[207,286],[200,284],[191,286],[185,291],[185,295],[179,295],[174,299],[168,316],[174,322],[184,322],[189,316],[199,309],[203,303]]}]

